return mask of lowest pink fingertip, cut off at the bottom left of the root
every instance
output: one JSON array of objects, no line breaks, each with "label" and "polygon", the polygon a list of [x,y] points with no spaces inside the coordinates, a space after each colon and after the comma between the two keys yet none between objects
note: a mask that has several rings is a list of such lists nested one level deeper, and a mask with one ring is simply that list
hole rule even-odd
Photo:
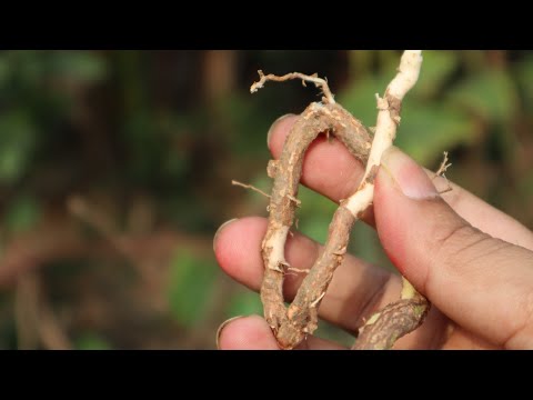
[{"label": "lowest pink fingertip, cut off at the bottom left of the root", "polygon": [[221,350],[280,350],[272,330],[259,316],[230,320],[219,332]]}]

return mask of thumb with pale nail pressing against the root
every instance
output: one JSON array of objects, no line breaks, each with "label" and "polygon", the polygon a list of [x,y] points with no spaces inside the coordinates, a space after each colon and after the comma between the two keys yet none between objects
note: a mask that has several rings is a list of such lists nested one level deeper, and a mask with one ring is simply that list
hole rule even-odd
[{"label": "thumb with pale nail pressing against the root", "polygon": [[399,149],[381,164],[374,214],[394,266],[463,328],[499,346],[533,348],[533,252],[472,227]]}]

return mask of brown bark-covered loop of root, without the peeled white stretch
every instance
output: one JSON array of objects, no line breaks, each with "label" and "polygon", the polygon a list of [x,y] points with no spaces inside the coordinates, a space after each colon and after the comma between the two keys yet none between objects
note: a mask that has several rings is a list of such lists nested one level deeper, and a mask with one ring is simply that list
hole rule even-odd
[{"label": "brown bark-covered loop of root, without the peeled white stretch", "polygon": [[[324,267],[320,267],[316,271],[311,270],[300,289],[302,293],[308,294],[300,294],[298,297],[299,302],[289,310],[288,314],[283,300],[283,277],[290,266],[283,257],[284,243],[286,233],[294,222],[294,211],[298,206],[295,198],[305,151],[322,132],[334,134],[363,163],[368,160],[371,147],[371,137],[366,129],[341,106],[336,103],[312,103],[296,120],[286,137],[280,159],[272,160],[269,163],[268,172],[274,179],[274,182],[269,207],[269,224],[262,243],[265,271],[261,287],[261,300],[264,304],[264,317],[283,348],[293,348],[306,333],[313,330],[311,328],[315,326],[316,320],[313,314],[315,314],[320,299],[311,298],[309,296],[310,289],[313,287],[320,288],[319,294],[322,294],[334,269],[342,261],[342,256],[328,256],[328,252],[323,254],[323,261],[319,264]],[[351,218],[350,212],[339,211],[339,214],[342,216],[342,218],[338,218],[339,221],[344,226],[349,224],[351,228],[353,218]],[[348,243],[349,233],[350,230],[348,229],[344,234],[344,243]],[[336,242],[338,240],[331,241],[326,249],[339,252],[340,249],[332,249]],[[324,269],[328,271],[323,271]],[[316,281],[316,279],[322,279],[324,274],[330,278],[324,281]]]}]

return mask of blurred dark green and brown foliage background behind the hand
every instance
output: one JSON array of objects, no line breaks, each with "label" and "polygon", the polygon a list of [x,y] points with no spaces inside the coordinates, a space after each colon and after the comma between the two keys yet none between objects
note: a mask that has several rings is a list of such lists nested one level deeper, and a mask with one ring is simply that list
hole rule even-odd
[{"label": "blurred dark green and brown foliage background behind the hand", "polygon": [[[262,313],[214,260],[228,219],[266,216],[270,124],[320,99],[257,70],[328,77],[374,126],[400,51],[1,51],[0,349],[213,349]],[[396,144],[533,228],[533,53],[426,51]],[[335,204],[302,188],[323,241]],[[351,251],[389,266],[356,224]],[[390,266],[389,266],[390,267]],[[319,336],[352,339],[325,323]]]}]

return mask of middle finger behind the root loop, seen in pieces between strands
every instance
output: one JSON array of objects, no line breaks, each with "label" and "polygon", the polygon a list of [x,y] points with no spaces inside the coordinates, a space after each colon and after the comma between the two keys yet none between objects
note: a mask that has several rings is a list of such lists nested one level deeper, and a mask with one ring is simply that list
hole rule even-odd
[{"label": "middle finger behind the root loop, seen in pieces between strands", "polygon": [[[250,217],[224,227],[217,236],[215,256],[221,268],[239,282],[259,291],[263,279],[261,240],[266,219]],[[301,233],[289,236],[285,246],[288,262],[301,270],[310,269],[322,246]],[[284,297],[291,301],[305,273],[288,273]],[[398,300],[401,281],[398,276],[346,254],[338,268],[321,307],[321,318],[354,332],[363,317]]]}]

